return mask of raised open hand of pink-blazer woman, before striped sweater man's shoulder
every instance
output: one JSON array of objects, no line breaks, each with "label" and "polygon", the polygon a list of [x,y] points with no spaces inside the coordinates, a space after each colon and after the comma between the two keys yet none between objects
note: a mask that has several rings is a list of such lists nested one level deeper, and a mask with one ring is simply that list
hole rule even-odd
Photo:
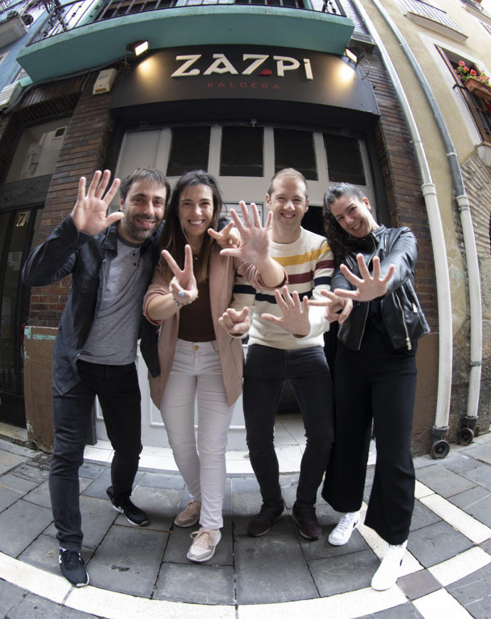
[{"label": "raised open hand of pink-blazer woman, before striped sweater man's shoulder", "polygon": [[245,202],[239,202],[239,206],[242,211],[243,223],[233,208],[231,208],[230,214],[241,236],[241,242],[238,247],[226,248],[221,250],[220,253],[221,255],[231,255],[236,258],[241,258],[244,262],[253,263],[260,268],[269,258],[270,229],[273,221],[273,213],[268,213],[268,219],[263,228],[258,208],[254,203],[250,204],[253,214],[252,218],[248,213]]}]

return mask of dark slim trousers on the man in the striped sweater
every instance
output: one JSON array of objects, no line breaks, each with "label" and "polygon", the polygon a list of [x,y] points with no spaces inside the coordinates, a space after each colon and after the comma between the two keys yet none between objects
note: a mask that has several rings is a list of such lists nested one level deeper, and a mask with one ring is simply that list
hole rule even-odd
[{"label": "dark slim trousers on the man in the striped sweater", "polygon": [[244,369],[243,408],[250,464],[263,503],[283,504],[274,447],[275,416],[283,385],[289,380],[305,425],[307,445],[300,465],[297,501],[313,505],[331,451],[332,383],[321,346],[282,350],[249,346]]}]

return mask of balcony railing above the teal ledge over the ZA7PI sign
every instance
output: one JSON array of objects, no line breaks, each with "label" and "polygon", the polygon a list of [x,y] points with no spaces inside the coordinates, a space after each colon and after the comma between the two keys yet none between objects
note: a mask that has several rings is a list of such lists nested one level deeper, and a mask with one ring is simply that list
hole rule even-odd
[{"label": "balcony railing above the teal ledge over the ZA7PI sign", "polygon": [[[64,4],[60,4],[59,0],[43,0],[43,4],[48,11],[46,27],[28,45],[56,34],[73,30],[73,28],[86,26],[89,23],[144,13],[146,11],[181,9],[186,6],[196,5],[210,6],[213,4],[250,4],[254,6],[274,6],[285,9],[306,10],[303,0],[109,0],[104,6],[97,0],[74,0]],[[97,6],[100,7],[100,10],[97,15],[93,16]],[[315,7],[314,11],[346,16],[340,0],[320,0],[315,2]]]}]

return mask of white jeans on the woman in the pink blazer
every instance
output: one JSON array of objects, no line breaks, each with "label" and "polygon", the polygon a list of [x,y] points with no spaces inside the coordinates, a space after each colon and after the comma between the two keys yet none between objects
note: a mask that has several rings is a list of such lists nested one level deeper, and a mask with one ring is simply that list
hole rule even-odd
[{"label": "white jeans on the woman in the pink blazer", "polygon": [[[198,443],[194,402],[198,398]],[[174,460],[192,499],[201,501],[199,524],[223,527],[225,452],[233,406],[227,406],[216,342],[178,339],[160,413]]]}]

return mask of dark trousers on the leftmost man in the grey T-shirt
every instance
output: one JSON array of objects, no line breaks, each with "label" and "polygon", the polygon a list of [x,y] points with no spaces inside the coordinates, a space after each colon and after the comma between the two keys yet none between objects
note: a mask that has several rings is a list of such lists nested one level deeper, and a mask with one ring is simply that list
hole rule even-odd
[{"label": "dark trousers on the leftmost man in the grey T-shirt", "polygon": [[95,396],[102,408],[107,436],[115,450],[108,490],[115,502],[130,497],[138,470],[141,443],[140,393],[134,364],[107,366],[78,361],[80,382],[67,393],[53,390],[53,460],[49,475],[51,509],[60,546],[82,546],[78,469]]}]

